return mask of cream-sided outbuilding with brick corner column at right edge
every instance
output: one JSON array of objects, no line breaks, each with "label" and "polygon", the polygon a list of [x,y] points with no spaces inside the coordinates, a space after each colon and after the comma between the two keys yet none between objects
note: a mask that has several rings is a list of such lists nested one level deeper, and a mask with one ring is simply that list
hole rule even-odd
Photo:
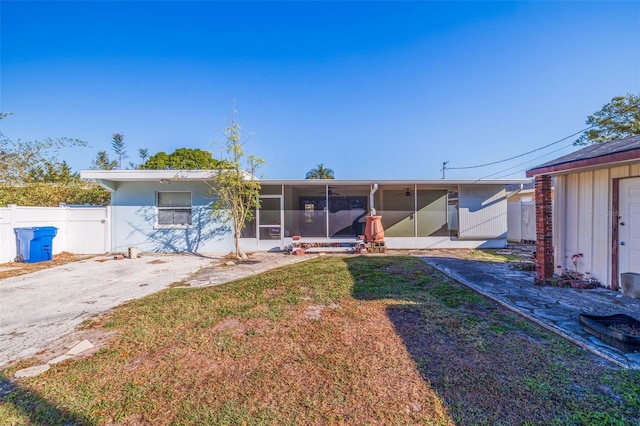
[{"label": "cream-sided outbuilding with brick corner column at right edge", "polygon": [[587,146],[527,177],[536,185],[539,279],[573,269],[574,255],[579,272],[614,290],[621,273],[640,273],[640,135]]}]

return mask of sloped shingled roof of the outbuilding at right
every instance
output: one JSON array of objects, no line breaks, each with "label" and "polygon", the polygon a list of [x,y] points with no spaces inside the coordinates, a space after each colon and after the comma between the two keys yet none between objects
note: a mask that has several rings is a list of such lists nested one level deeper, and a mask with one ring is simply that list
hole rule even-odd
[{"label": "sloped shingled roof of the outbuilding at right", "polygon": [[574,169],[596,168],[638,160],[640,160],[640,135],[589,145],[527,170],[527,177],[559,174]]}]

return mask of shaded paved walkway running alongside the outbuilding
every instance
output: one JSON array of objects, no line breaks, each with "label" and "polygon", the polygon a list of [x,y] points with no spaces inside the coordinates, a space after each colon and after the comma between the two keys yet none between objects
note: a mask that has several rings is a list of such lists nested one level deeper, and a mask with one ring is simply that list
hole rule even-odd
[{"label": "shaded paved walkway running alongside the outbuilding", "polygon": [[579,290],[533,284],[534,272],[509,263],[467,260],[450,253],[418,257],[462,284],[497,301],[525,318],[569,339],[619,366],[640,369],[640,352],[623,352],[584,332],[578,315],[627,314],[640,318],[640,300],[604,288]]}]

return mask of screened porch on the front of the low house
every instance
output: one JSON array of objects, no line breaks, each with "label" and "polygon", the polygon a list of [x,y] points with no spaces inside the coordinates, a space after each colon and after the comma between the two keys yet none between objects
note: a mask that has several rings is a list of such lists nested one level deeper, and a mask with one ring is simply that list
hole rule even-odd
[{"label": "screened porch on the front of the low house", "polygon": [[389,248],[504,247],[505,200],[504,181],[267,180],[242,245],[281,250],[294,237],[344,243],[377,215]]}]

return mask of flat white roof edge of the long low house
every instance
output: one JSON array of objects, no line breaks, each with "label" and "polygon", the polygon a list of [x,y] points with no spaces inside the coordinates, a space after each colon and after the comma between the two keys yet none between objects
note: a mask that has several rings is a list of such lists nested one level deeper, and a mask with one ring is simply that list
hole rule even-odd
[{"label": "flat white roof edge of the long low house", "polygon": [[[211,181],[215,170],[82,170],[80,177],[113,188],[112,182],[165,182],[165,181]],[[346,180],[346,179],[260,179],[263,185],[295,186],[353,186],[353,185],[395,185],[395,186],[457,186],[457,185],[507,185],[526,184],[530,179],[401,179],[401,180]]]}]

